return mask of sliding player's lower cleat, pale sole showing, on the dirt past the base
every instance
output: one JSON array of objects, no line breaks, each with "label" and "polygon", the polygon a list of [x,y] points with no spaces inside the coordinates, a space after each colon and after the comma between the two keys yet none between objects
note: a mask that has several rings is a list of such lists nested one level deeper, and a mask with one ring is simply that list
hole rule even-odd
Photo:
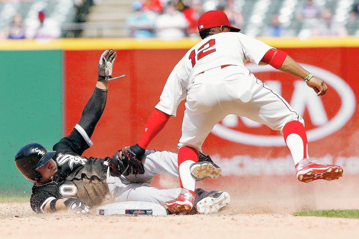
[{"label": "sliding player's lower cleat, pale sole showing, on the dirt past the base", "polygon": [[194,207],[198,213],[208,214],[218,212],[224,206],[230,203],[228,192],[221,191],[205,191],[196,188],[196,199]]}]

